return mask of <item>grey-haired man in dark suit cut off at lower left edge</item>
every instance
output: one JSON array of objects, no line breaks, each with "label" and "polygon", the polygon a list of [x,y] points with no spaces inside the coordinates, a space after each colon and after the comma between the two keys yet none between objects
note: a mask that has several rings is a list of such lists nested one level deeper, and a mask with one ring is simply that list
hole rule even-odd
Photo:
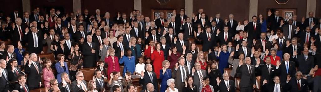
[{"label": "grey-haired man in dark suit cut off at lower left edge", "polygon": [[4,59],[0,59],[0,91],[1,92],[7,92],[9,89],[9,76],[8,76],[8,71],[6,69],[6,61]]}]

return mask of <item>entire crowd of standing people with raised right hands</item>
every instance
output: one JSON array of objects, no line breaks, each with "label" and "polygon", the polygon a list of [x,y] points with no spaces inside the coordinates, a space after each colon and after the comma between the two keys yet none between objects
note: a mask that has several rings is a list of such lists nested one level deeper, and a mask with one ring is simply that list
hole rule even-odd
[{"label": "entire crowd of standing people with raised right hands", "polygon": [[[234,78],[240,92],[321,91],[321,20],[314,12],[299,21],[269,10],[252,22],[203,9],[187,16],[183,8],[170,19],[139,10],[115,18],[99,9],[18,12],[0,16],[0,92],[137,92],[132,75],[140,76],[141,92],[235,92]],[[55,61],[39,57],[46,53]],[[94,76],[78,71],[92,67]]]}]

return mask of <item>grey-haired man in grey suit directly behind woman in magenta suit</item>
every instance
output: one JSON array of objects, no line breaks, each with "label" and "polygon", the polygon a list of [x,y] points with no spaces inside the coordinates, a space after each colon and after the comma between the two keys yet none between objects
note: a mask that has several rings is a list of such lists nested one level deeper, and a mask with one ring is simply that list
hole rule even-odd
[{"label": "grey-haired man in grey suit directly behind woman in magenta suit", "polygon": [[100,44],[100,50],[99,50],[99,56],[101,61],[105,61],[107,54],[109,54],[108,49],[111,48],[111,46],[109,46],[109,39],[105,38],[103,42],[104,42],[104,45]]}]

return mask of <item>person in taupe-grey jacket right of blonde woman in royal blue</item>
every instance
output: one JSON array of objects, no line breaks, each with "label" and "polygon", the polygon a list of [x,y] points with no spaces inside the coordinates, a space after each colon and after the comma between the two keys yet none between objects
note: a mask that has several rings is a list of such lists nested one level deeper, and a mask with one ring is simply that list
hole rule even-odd
[{"label": "person in taupe-grey jacket right of blonde woman in royal blue", "polygon": [[230,73],[230,76],[231,77],[233,77],[233,78],[235,78],[235,77],[237,77],[236,75],[236,67],[237,66],[239,66],[239,62],[240,62],[240,60],[242,59],[242,60],[244,60],[244,53],[239,53],[239,59],[233,59],[232,60],[232,58],[233,58],[233,56],[234,56],[234,52],[232,52],[231,54],[230,54],[230,57],[229,57],[229,59],[228,59],[228,62],[230,63],[230,64],[233,64],[233,68],[232,68],[232,71],[231,71],[231,73]]}]

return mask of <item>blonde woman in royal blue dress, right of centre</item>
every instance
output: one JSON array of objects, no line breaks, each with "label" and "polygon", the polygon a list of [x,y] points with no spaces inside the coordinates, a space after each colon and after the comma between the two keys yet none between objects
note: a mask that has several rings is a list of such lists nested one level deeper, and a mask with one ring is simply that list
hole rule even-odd
[{"label": "blonde woman in royal blue dress, right of centre", "polygon": [[219,53],[217,54],[217,59],[220,59],[219,62],[219,69],[221,70],[221,73],[224,73],[224,68],[228,68],[228,59],[230,56],[230,52],[227,51],[227,46],[223,44],[221,48],[219,48]]}]

